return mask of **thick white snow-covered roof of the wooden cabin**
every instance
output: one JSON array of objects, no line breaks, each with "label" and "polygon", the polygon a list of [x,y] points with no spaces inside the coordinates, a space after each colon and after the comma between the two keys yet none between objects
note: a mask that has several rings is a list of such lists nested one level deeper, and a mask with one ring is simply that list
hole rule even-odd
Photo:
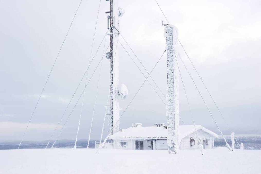
[{"label": "thick white snow-covered roof of the wooden cabin", "polygon": [[[218,137],[214,132],[206,129],[201,125],[196,125],[196,130],[203,130],[214,137]],[[195,132],[194,125],[180,125],[180,138],[184,138]],[[167,139],[168,130],[164,127],[147,126],[147,127],[129,127],[122,132],[111,135],[110,139]]]}]

